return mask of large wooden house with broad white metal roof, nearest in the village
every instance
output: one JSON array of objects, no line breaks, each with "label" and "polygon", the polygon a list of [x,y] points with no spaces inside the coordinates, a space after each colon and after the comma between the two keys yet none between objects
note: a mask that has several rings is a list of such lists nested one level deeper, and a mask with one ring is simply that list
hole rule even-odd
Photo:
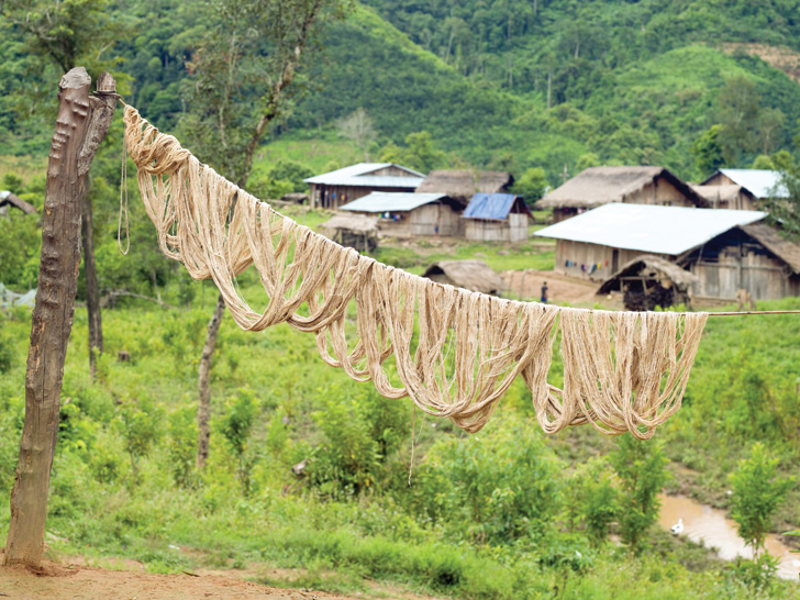
[{"label": "large wooden house with broad white metal roof, nearest in the village", "polygon": [[604,281],[641,255],[697,276],[695,298],[800,295],[800,247],[760,221],[765,212],[611,203],[535,233],[557,240],[555,270]]}]

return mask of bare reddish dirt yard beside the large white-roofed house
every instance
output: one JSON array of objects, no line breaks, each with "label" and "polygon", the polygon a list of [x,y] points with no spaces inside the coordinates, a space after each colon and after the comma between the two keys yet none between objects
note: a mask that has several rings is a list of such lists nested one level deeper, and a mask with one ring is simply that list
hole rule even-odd
[{"label": "bare reddish dirt yard beside the large white-roofed house", "polygon": [[[573,305],[591,305],[602,301],[604,307],[621,308],[622,303],[616,298],[595,296],[599,284],[586,281],[576,277],[558,275],[552,270],[507,270],[500,274],[505,285],[509,286],[507,296],[520,297],[522,286],[522,298],[525,300],[540,300],[542,285],[547,282],[547,300],[549,302],[568,302]],[[619,307],[616,305],[619,304]]]}]

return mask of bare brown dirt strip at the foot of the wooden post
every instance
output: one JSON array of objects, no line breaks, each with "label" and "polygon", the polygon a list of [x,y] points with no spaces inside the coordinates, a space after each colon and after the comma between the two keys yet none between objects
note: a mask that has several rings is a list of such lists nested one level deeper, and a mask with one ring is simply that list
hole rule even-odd
[{"label": "bare brown dirt strip at the foot of the wooden post", "polygon": [[[364,595],[342,596],[310,589],[284,589],[246,581],[254,569],[198,570],[159,575],[145,573],[135,560],[120,564],[126,570],[47,562],[41,570],[23,566],[0,567],[0,597],[15,600],[363,600]],[[291,579],[288,570],[270,569]],[[435,600],[377,582],[368,584],[371,599]]]}]

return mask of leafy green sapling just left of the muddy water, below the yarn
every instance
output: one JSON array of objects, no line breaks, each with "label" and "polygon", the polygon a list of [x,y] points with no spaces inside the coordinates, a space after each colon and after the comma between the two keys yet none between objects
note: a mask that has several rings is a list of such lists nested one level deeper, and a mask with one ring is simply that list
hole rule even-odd
[{"label": "leafy green sapling just left of the muddy water, below the yarn", "polygon": [[638,553],[643,535],[658,519],[657,495],[667,479],[667,458],[653,441],[636,440],[626,433],[620,436],[611,464],[620,480],[620,535]]}]

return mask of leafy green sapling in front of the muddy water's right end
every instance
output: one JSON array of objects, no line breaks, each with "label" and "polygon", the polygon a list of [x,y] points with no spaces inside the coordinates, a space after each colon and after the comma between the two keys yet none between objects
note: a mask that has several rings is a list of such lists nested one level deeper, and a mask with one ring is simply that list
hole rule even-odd
[{"label": "leafy green sapling in front of the muddy water's right end", "polygon": [[766,552],[764,541],[775,512],[795,484],[793,477],[778,475],[778,464],[764,444],[757,442],[749,456],[740,460],[736,470],[729,475],[733,486],[731,516],[738,525],[740,537],[753,548],[754,558],[759,552]]}]

